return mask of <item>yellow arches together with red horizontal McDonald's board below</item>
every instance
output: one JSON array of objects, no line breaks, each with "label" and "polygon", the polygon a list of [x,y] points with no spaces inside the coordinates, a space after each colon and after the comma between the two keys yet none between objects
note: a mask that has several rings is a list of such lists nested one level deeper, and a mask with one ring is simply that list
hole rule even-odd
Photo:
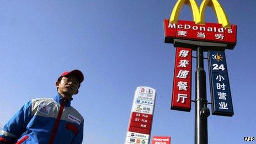
[{"label": "yellow arches together with red horizontal McDonald's board below", "polygon": [[[193,22],[178,20],[180,10],[184,4],[190,6],[194,19]],[[211,7],[214,10],[218,23],[204,22],[206,7]],[[183,40],[199,43],[206,42],[205,45],[212,45],[214,43],[217,50],[234,49],[237,38],[237,26],[230,24],[225,11],[217,0],[203,0],[200,8],[195,0],[178,0],[170,15],[170,19],[164,19],[164,35],[164,42],[174,43],[176,47],[180,45],[175,45],[175,40]],[[184,47],[184,45],[182,46]],[[209,50],[216,50],[216,47],[209,47]]]}]

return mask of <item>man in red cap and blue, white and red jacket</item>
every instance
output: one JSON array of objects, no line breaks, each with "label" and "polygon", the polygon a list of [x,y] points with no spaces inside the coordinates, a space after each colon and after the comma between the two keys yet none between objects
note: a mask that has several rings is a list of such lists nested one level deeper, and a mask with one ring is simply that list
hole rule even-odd
[{"label": "man in red cap and blue, white and red jacket", "polygon": [[70,104],[83,79],[79,70],[62,73],[56,97],[26,103],[4,125],[0,143],[82,143],[84,120]]}]

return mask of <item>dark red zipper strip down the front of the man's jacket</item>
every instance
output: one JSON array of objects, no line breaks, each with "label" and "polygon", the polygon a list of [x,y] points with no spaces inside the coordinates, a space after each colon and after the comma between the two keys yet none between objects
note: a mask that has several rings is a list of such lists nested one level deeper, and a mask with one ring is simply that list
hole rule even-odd
[{"label": "dark red zipper strip down the front of the man's jacket", "polygon": [[58,111],[58,116],[57,116],[57,119],[56,119],[55,124],[54,124],[54,129],[52,130],[52,134],[51,134],[51,137],[50,137],[49,144],[52,144],[54,142],[54,138],[55,138],[56,132],[58,130],[58,124],[60,124],[61,115],[62,115],[64,105],[66,104],[66,102],[67,102],[66,99],[63,99],[63,101],[61,102],[61,107],[60,107],[60,110]]}]

